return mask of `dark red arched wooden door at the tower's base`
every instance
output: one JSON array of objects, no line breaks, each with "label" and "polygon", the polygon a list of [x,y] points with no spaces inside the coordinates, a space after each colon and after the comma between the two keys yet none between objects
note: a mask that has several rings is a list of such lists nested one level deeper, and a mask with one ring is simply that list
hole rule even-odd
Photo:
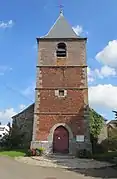
[{"label": "dark red arched wooden door at the tower's base", "polygon": [[69,133],[63,126],[57,127],[53,136],[53,152],[68,153],[69,152]]}]

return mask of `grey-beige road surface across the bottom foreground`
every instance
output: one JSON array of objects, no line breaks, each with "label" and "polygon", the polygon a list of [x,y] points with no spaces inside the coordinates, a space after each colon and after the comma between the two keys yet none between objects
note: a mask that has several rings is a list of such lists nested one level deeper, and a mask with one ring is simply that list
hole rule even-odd
[{"label": "grey-beige road surface across the bottom foreground", "polygon": [[117,179],[117,169],[80,169],[75,171],[26,165],[0,157],[1,179]]}]

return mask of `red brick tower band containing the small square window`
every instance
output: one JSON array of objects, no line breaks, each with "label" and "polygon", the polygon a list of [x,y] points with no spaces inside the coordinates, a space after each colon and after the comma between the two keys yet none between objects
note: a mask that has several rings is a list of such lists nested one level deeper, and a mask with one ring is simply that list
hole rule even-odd
[{"label": "red brick tower band containing the small square window", "polygon": [[39,112],[78,113],[84,115],[83,90],[67,90],[66,97],[55,96],[55,90],[40,90]]}]

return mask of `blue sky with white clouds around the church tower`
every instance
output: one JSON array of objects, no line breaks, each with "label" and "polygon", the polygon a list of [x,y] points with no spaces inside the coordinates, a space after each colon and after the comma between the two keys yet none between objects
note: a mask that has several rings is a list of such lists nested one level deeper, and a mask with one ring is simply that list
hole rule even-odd
[{"label": "blue sky with white clouds around the church tower", "polygon": [[[117,108],[117,0],[61,0],[64,15],[88,37],[90,105],[107,119]],[[59,15],[58,0],[0,0],[0,120],[34,101],[36,37]]]}]

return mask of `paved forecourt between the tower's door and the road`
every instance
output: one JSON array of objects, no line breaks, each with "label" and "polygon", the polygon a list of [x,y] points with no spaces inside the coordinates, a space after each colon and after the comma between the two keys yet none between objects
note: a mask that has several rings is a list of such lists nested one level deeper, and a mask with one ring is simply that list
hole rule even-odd
[{"label": "paved forecourt between the tower's door and the road", "polygon": [[64,169],[89,169],[113,166],[113,164],[107,162],[92,159],[78,159],[71,156],[19,157],[16,158],[16,160],[30,165]]}]

